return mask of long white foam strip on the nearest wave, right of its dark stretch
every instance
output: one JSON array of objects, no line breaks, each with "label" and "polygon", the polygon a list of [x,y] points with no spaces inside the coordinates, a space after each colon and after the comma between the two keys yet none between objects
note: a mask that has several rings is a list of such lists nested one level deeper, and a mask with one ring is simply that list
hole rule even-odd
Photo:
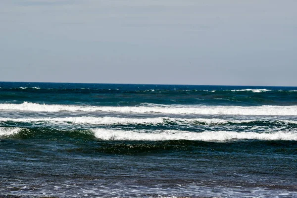
[{"label": "long white foam strip on the nearest wave, right of its dark stretch", "polygon": [[164,141],[164,140],[196,140],[196,141],[228,141],[228,140],[294,140],[297,133],[255,133],[233,131],[188,132],[178,130],[160,131],[122,131],[110,129],[93,129],[96,138],[101,140],[136,140],[136,141]]}]

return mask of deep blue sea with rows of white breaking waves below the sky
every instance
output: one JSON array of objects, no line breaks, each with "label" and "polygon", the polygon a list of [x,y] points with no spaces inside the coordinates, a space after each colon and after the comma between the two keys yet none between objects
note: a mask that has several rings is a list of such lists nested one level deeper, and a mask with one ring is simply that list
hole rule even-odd
[{"label": "deep blue sea with rows of white breaking waves below the sky", "polygon": [[297,197],[297,87],[0,82],[0,197]]}]

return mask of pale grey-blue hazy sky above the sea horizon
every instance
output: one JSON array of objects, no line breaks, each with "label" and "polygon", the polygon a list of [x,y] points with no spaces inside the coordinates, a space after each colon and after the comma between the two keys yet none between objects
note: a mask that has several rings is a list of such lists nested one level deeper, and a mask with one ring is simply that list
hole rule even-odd
[{"label": "pale grey-blue hazy sky above the sea horizon", "polygon": [[297,86],[297,0],[0,0],[0,81]]}]

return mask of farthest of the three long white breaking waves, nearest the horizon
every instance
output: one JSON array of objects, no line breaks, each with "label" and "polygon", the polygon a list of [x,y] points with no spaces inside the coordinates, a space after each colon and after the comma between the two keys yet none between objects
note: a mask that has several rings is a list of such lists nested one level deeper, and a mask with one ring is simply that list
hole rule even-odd
[{"label": "farthest of the three long white breaking waves, nearest the horizon", "polygon": [[297,115],[297,106],[186,106],[186,105],[147,105],[147,106],[77,106],[58,104],[0,104],[0,110],[21,110],[36,112],[59,111],[103,111],[118,113],[165,113],[165,114],[204,114],[204,115]]}]

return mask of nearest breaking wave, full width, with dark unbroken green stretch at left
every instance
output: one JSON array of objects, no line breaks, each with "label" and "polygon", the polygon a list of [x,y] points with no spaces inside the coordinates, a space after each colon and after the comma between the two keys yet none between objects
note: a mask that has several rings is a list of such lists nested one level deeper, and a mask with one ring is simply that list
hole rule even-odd
[{"label": "nearest breaking wave, full width, with dark unbroken green stretch at left", "polygon": [[204,131],[190,132],[181,130],[119,130],[93,128],[91,130],[62,130],[50,127],[20,128],[0,127],[1,138],[16,139],[82,139],[104,141],[236,141],[236,140],[267,140],[267,141],[297,141],[297,133],[292,131],[280,131],[275,133],[235,132],[235,131]]}]

